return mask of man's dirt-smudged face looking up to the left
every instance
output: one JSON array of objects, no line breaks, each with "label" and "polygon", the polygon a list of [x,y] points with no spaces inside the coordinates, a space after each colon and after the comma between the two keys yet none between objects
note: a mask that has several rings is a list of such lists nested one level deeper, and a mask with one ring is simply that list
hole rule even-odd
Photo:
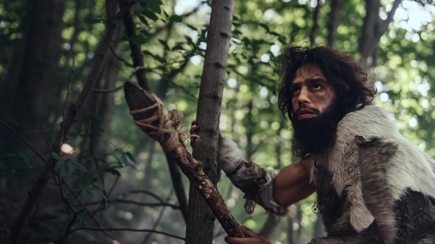
[{"label": "man's dirt-smudged face looking up to the left", "polygon": [[315,64],[299,67],[290,85],[293,116],[301,121],[317,118],[334,104],[333,87]]}]

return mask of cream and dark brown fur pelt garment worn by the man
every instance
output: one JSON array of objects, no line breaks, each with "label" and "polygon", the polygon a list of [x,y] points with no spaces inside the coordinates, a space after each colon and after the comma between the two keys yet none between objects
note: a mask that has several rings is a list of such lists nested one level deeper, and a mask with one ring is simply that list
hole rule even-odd
[{"label": "cream and dark brown fur pelt garment worn by the man", "polygon": [[334,147],[311,157],[328,234],[312,244],[435,243],[435,161],[379,107],[347,114]]}]

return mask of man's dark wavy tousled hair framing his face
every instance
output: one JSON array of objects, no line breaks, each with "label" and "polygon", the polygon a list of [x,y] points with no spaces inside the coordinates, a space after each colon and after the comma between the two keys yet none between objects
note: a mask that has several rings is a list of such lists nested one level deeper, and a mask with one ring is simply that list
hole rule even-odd
[{"label": "man's dark wavy tousled hair framing his face", "polygon": [[336,105],[344,116],[348,112],[372,105],[376,90],[366,83],[368,74],[361,64],[349,55],[329,46],[288,46],[279,57],[280,81],[278,87],[279,109],[293,121],[290,83],[299,67],[316,64],[334,88]]}]

